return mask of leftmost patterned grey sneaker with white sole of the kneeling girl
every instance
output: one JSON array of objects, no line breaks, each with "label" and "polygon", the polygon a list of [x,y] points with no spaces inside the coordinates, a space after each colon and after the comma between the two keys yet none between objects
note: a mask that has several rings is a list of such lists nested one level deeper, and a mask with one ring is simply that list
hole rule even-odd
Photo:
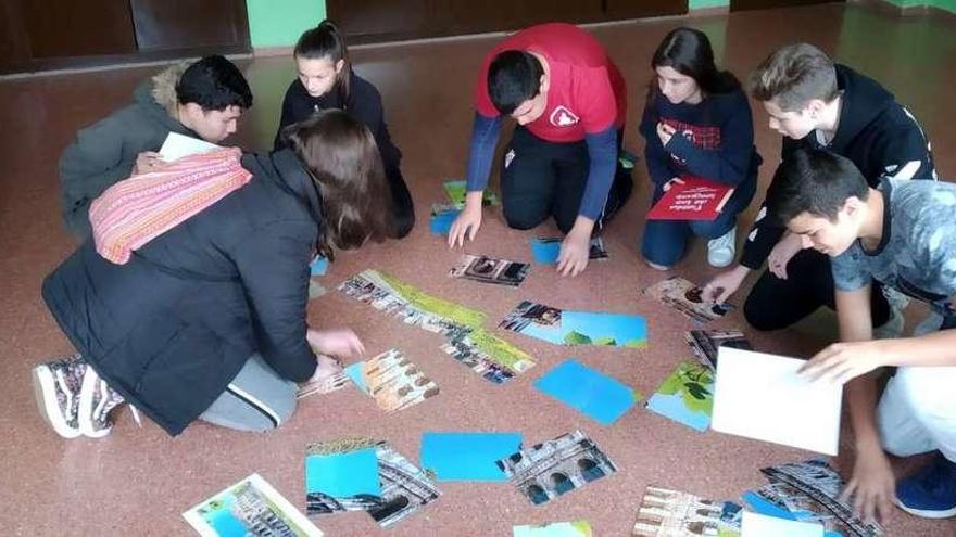
[{"label": "leftmost patterned grey sneaker with white sole of the kneeling girl", "polygon": [[43,420],[64,438],[79,431],[79,392],[89,368],[80,355],[50,360],[32,371],[34,394]]}]

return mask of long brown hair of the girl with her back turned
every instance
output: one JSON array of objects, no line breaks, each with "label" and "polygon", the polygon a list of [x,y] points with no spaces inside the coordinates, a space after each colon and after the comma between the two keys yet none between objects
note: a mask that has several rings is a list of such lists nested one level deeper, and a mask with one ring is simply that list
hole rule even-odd
[{"label": "long brown hair of the girl with her back turned", "polygon": [[389,184],[375,137],[362,122],[330,108],[290,125],[284,135],[318,188],[320,254],[335,259],[332,247],[351,250],[388,236]]}]

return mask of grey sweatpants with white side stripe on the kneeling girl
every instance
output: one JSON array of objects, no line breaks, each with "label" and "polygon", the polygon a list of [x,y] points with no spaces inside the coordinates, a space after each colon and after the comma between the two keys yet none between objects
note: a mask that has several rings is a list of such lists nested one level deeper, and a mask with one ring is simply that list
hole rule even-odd
[{"label": "grey sweatpants with white side stripe on the kneeling girl", "polygon": [[271,431],[292,415],[297,391],[294,382],[280,378],[254,354],[199,419],[239,431]]}]

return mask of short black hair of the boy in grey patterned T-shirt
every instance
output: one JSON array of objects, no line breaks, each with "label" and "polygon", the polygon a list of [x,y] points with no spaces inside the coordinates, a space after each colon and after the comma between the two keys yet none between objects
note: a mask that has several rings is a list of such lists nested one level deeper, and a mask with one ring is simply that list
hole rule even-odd
[{"label": "short black hair of the boy in grey patterned T-shirt", "polygon": [[800,149],[773,174],[767,214],[783,226],[803,213],[834,221],[852,196],[869,196],[869,184],[852,161],[826,150]]}]

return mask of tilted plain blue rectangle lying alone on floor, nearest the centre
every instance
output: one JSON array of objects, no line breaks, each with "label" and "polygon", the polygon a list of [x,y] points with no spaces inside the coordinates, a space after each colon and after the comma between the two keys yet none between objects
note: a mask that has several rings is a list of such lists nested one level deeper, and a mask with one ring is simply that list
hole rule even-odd
[{"label": "tilted plain blue rectangle lying alone on floor, nearest the centre", "polygon": [[637,401],[631,387],[575,359],[545,373],[534,387],[602,425],[614,423]]}]

